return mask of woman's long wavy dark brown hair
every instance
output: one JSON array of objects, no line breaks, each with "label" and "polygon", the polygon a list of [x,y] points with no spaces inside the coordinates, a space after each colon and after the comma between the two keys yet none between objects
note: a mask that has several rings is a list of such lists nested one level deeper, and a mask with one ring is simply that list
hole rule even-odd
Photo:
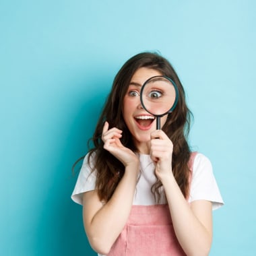
[{"label": "woman's long wavy dark brown hair", "polygon": [[[156,69],[162,75],[170,77],[177,84],[179,100],[176,108],[168,115],[162,130],[173,143],[172,172],[174,177],[183,195],[187,197],[189,193],[190,170],[188,162],[191,151],[187,143],[187,136],[192,114],[185,102],[185,91],[177,73],[164,57],[158,53],[139,53],[131,57],[117,73],[113,87],[104,104],[102,114],[98,119],[94,135],[90,139],[94,144],[94,148],[88,152],[88,164],[93,162],[91,167],[92,171],[96,170],[96,189],[102,201],[110,199],[125,172],[123,164],[103,148],[104,143],[101,136],[104,121],[108,121],[109,128],[117,127],[121,129],[123,131],[121,137],[123,146],[130,148],[133,152],[137,152],[133,139],[131,139],[132,135],[123,119],[122,110],[123,98],[127,93],[131,77],[141,67]],[[160,200],[160,187],[162,187],[162,183],[157,179],[156,183],[152,186],[152,193],[158,202]]]}]

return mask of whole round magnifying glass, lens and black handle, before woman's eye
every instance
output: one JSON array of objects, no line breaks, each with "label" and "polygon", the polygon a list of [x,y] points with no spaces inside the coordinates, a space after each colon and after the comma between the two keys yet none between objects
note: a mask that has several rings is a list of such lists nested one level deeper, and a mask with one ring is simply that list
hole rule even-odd
[{"label": "whole round magnifying glass, lens and black handle, before woman's eye", "polygon": [[150,77],[140,91],[141,105],[156,117],[156,129],[160,129],[160,117],[171,113],[177,106],[178,98],[177,85],[164,75]]}]

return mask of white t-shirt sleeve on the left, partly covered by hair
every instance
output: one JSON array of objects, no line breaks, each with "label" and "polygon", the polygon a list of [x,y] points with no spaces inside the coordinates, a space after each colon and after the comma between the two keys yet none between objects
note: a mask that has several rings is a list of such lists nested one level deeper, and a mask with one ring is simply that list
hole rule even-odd
[{"label": "white t-shirt sleeve on the left, partly covered by hair", "polygon": [[[93,157],[92,157],[93,158]],[[92,159],[91,158],[91,159]],[[82,205],[83,203],[83,193],[87,191],[92,191],[95,189],[96,184],[96,174],[95,171],[92,172],[92,162],[90,165],[88,164],[88,154],[84,158],[82,168],[77,177],[77,182],[75,183],[75,189],[71,195],[71,199],[75,203],[79,203]]]}]

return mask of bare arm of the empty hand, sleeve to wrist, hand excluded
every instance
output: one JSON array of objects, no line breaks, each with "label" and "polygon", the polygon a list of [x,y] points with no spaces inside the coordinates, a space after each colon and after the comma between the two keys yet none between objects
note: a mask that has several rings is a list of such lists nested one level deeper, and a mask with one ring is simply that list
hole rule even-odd
[{"label": "bare arm of the empty hand, sleeve to wrist, hand excluded", "polygon": [[102,205],[96,190],[84,193],[84,227],[90,245],[98,253],[108,253],[129,217],[137,181],[129,168],[106,204]]}]

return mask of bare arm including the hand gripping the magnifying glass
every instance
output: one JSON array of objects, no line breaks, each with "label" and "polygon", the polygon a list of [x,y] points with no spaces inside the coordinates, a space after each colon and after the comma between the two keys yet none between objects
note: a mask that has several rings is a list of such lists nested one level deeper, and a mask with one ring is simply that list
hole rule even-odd
[{"label": "bare arm including the hand gripping the magnifying glass", "polygon": [[172,174],[172,142],[164,132],[152,134],[151,151],[181,247],[189,256],[208,255],[212,244],[212,203],[204,200],[187,203]]}]

